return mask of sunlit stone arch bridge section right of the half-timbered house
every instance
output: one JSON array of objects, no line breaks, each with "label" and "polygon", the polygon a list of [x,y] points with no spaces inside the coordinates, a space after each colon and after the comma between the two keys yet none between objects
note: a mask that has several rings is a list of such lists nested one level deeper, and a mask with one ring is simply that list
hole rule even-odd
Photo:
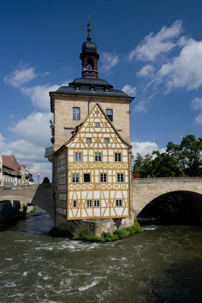
[{"label": "sunlit stone arch bridge section right of the half-timbered house", "polygon": [[202,178],[144,178],[132,181],[135,216],[155,198],[169,192],[178,192],[202,213]]}]

